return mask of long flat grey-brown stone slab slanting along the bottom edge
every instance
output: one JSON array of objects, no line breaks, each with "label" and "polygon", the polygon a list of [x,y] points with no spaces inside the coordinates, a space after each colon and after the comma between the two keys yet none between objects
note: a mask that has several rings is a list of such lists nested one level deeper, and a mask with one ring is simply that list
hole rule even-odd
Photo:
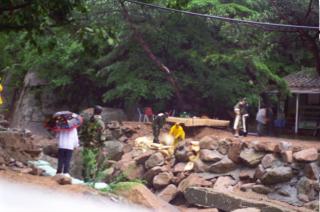
[{"label": "long flat grey-brown stone slab slanting along the bottom edge", "polygon": [[259,208],[261,211],[289,212],[290,208],[243,197],[233,192],[215,191],[209,188],[190,187],[184,192],[184,197],[189,204],[218,208],[223,211],[232,211],[243,207]]}]

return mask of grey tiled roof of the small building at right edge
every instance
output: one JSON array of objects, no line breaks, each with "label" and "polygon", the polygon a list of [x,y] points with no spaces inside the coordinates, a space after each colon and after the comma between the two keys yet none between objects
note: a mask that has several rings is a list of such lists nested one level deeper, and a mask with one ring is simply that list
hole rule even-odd
[{"label": "grey tiled roof of the small building at right edge", "polygon": [[310,71],[293,73],[284,79],[293,93],[320,93],[320,76]]}]

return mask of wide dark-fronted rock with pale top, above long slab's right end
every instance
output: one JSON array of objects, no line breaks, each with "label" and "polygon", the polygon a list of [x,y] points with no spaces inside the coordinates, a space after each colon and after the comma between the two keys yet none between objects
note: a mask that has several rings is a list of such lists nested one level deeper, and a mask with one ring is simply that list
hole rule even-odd
[{"label": "wide dark-fronted rock with pale top, above long slab's right end", "polygon": [[259,178],[265,185],[289,181],[292,178],[291,167],[275,167],[266,169],[266,173]]}]

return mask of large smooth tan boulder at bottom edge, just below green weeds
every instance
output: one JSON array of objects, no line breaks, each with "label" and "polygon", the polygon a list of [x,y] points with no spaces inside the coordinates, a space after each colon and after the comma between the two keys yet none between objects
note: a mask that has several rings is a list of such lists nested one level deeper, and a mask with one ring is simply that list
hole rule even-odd
[{"label": "large smooth tan boulder at bottom edge, just below green weeds", "polygon": [[[128,183],[123,183],[128,184]],[[147,187],[142,184],[131,185],[125,189],[118,189],[116,194],[123,196],[132,203],[150,208],[153,211],[172,211],[178,212],[178,209],[153,194]]]}]

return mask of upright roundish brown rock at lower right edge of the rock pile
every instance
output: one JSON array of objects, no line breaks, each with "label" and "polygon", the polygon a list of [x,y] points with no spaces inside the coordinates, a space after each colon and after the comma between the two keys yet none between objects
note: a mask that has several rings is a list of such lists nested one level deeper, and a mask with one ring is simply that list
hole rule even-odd
[{"label": "upright roundish brown rock at lower right edge of the rock pile", "polygon": [[317,181],[302,177],[297,183],[298,198],[303,202],[309,202],[316,199],[315,190]]}]

